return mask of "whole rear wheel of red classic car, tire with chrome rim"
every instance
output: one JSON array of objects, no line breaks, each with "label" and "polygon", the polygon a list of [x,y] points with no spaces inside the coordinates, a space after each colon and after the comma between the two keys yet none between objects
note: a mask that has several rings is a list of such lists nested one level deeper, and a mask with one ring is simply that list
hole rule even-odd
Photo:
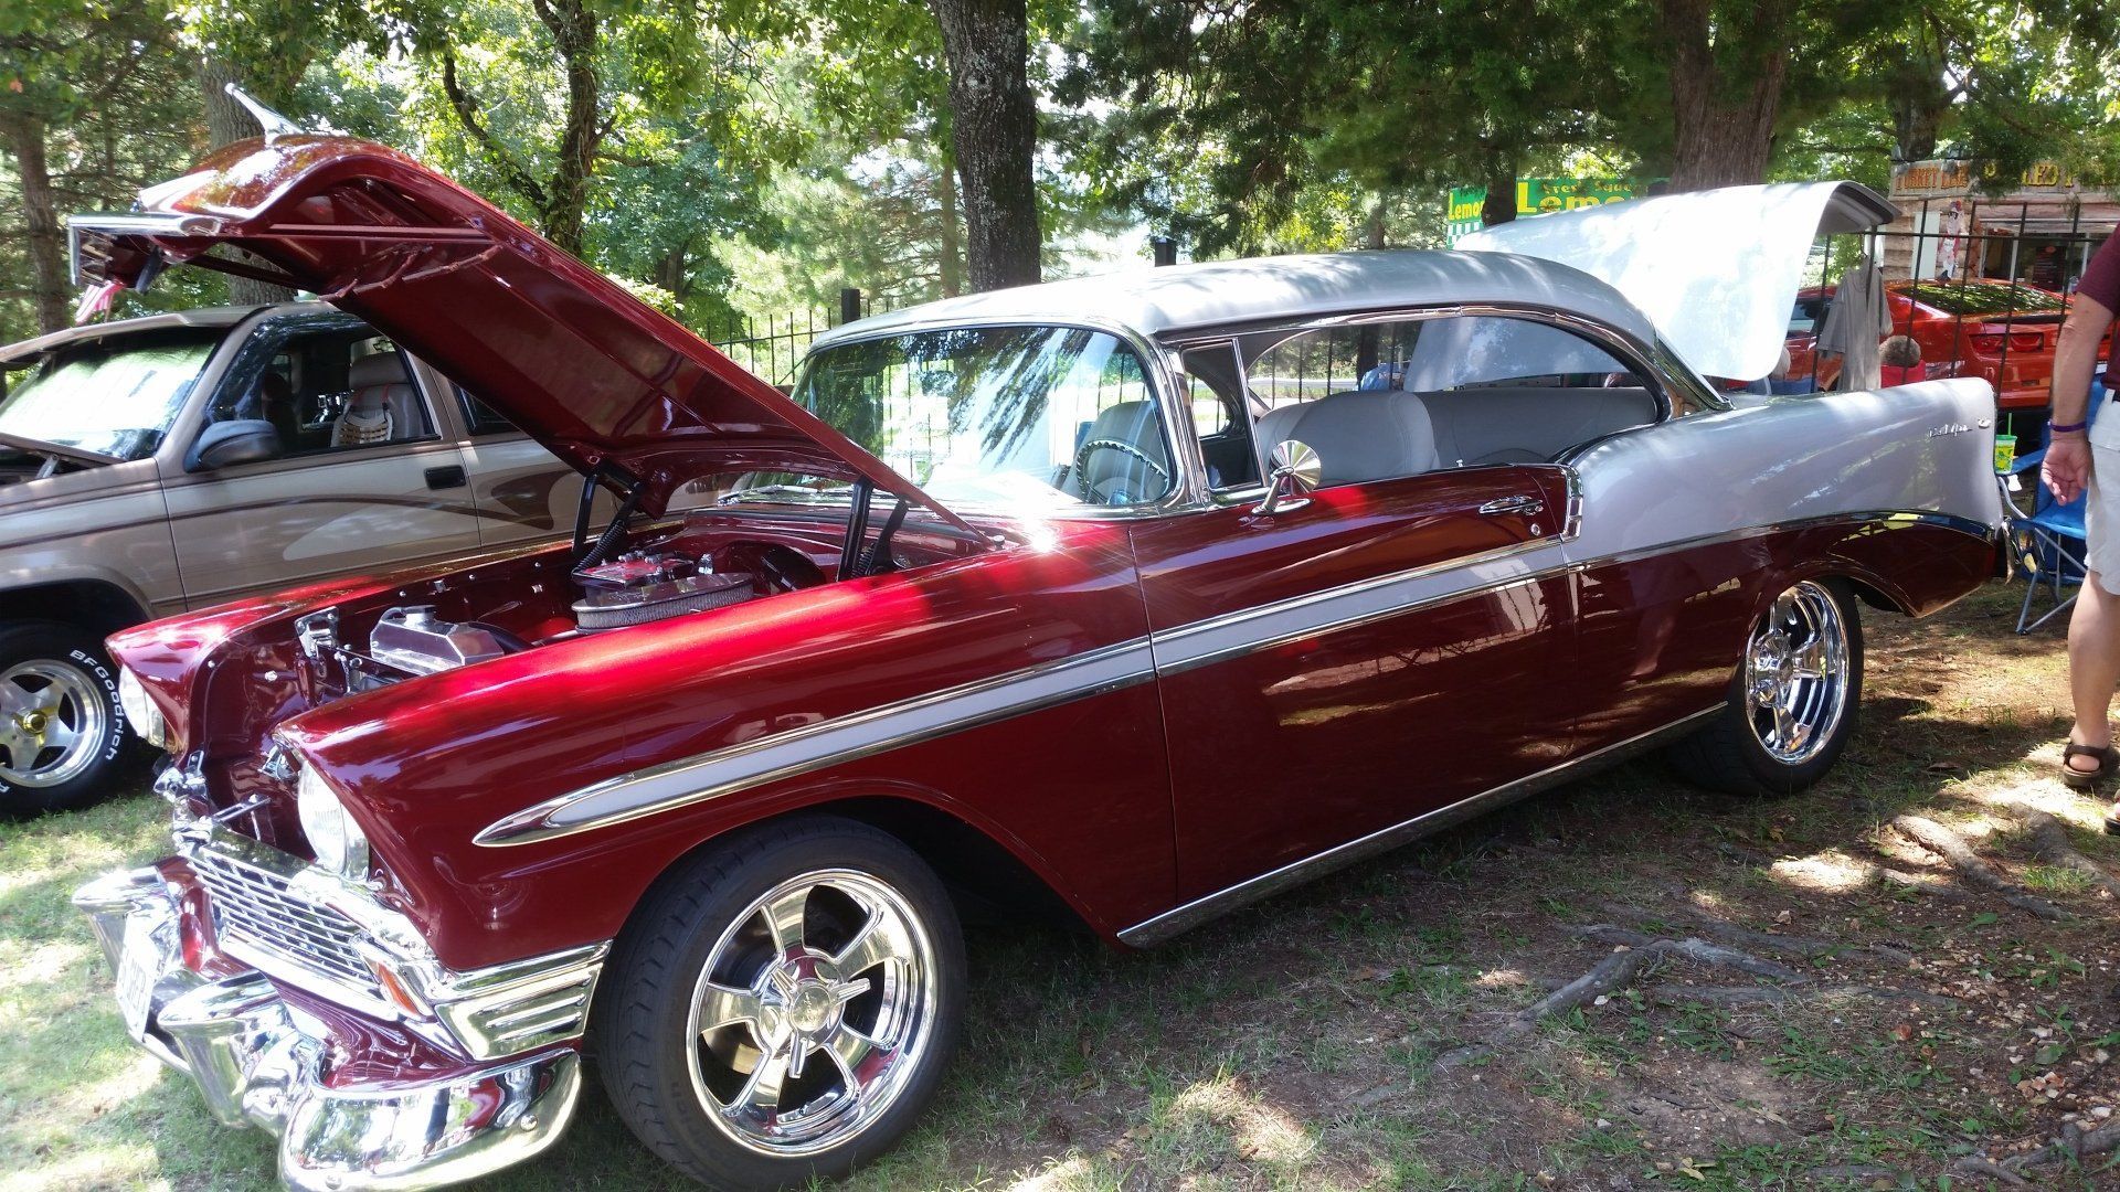
[{"label": "whole rear wheel of red classic car, tire with chrome rim", "polygon": [[1804,579],[1760,613],[1730,702],[1677,742],[1692,783],[1736,795],[1794,795],[1847,749],[1861,704],[1861,617],[1838,579]]}]

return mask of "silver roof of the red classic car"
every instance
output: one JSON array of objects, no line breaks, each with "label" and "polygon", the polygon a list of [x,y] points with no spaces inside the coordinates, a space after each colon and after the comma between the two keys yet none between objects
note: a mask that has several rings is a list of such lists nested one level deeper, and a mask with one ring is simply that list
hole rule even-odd
[{"label": "silver roof of the red classic car", "polygon": [[1533,305],[1605,322],[1649,344],[1656,329],[1590,274],[1507,252],[1357,250],[1202,261],[931,301],[835,327],[812,348],[967,322],[1096,322],[1145,337],[1414,305]]}]

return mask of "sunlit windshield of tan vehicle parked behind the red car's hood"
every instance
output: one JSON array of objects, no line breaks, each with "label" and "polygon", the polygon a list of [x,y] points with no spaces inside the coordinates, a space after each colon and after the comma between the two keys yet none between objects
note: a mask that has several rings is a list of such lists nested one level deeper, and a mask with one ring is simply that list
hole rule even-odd
[{"label": "sunlit windshield of tan vehicle parked behind the red car's hood", "polygon": [[61,348],[8,378],[0,435],[119,460],[153,456],[216,341],[214,333],[176,329]]}]

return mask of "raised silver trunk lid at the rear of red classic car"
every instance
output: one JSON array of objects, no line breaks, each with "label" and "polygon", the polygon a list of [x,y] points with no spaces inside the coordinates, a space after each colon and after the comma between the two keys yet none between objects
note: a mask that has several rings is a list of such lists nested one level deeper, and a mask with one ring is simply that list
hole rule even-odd
[{"label": "raised silver trunk lid at the rear of red classic car", "polygon": [[1781,361],[1810,242],[1895,214],[1859,182],[1774,182],[1522,218],[1456,246],[1573,265],[1626,295],[1702,375],[1749,382]]}]

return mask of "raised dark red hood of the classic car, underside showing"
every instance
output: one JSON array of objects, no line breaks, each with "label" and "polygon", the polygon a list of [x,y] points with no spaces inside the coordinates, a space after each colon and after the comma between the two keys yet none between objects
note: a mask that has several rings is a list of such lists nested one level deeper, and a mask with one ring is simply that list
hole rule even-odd
[{"label": "raised dark red hood of the classic car, underside showing", "polygon": [[575,469],[602,471],[619,488],[640,481],[638,507],[649,513],[691,479],[782,471],[867,479],[971,528],[611,278],[379,144],[326,136],[231,144],[140,191],[134,214],[74,216],[68,238],[89,284],[144,288],[165,265],[189,261],[314,291]]}]

